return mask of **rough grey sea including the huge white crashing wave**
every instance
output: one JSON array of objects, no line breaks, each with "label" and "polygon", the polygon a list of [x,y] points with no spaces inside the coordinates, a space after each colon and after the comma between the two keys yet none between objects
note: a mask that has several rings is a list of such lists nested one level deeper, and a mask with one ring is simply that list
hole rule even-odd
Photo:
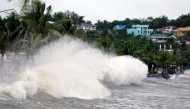
[{"label": "rough grey sea including the huge white crashing wave", "polygon": [[1,69],[0,109],[188,109],[190,76],[146,78],[147,65],[64,37],[17,70]]}]

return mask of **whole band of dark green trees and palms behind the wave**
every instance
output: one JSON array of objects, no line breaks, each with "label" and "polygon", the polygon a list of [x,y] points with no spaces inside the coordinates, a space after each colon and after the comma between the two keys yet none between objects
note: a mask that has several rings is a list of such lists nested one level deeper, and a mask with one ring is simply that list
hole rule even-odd
[{"label": "whole band of dark green trees and palms behind the wave", "polygon": [[[11,1],[11,0],[8,0]],[[190,64],[190,46],[185,42],[181,45],[176,39],[168,38],[166,46],[172,47],[172,53],[160,52],[159,44],[153,43],[144,36],[126,34],[126,29],[132,25],[149,25],[149,28],[158,29],[173,25],[176,27],[190,26],[190,14],[183,14],[177,19],[169,20],[167,16],[147,18],[114,20],[98,20],[96,31],[77,29],[81,23],[92,24],[85,21],[84,16],[75,12],[64,11],[52,13],[52,7],[40,0],[21,0],[22,14],[11,13],[6,18],[0,17],[0,52],[14,49],[26,52],[27,58],[33,56],[42,46],[59,39],[65,34],[80,38],[83,41],[97,45],[105,52],[115,52],[117,55],[131,55],[139,58],[146,64],[156,63],[160,66],[177,64],[186,66]],[[114,30],[115,25],[125,25],[124,29]],[[184,38],[189,38],[187,32]],[[16,46],[15,46],[16,45]],[[14,48],[13,48],[14,47]]]}]

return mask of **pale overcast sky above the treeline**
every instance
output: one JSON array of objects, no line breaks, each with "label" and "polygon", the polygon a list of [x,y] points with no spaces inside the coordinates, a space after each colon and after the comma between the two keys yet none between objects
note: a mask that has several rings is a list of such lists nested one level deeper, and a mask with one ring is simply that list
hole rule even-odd
[{"label": "pale overcast sky above the treeline", "polygon": [[[17,1],[17,0],[13,0]],[[190,13],[190,0],[43,0],[52,5],[53,12],[74,11],[93,23],[97,20],[124,20],[125,18],[153,18],[161,15],[176,19]],[[15,2],[0,0],[0,11],[14,8]],[[6,14],[0,13],[1,16]]]}]

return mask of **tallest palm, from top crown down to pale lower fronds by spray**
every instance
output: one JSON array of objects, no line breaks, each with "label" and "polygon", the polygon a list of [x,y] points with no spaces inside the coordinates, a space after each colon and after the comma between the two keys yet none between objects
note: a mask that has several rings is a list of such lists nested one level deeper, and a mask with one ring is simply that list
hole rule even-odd
[{"label": "tallest palm, from top crown down to pale lower fronds by spray", "polygon": [[43,46],[62,36],[54,29],[54,23],[49,23],[51,11],[51,6],[45,8],[45,3],[40,0],[33,0],[22,16],[27,25],[27,33],[22,42],[28,59],[29,56],[33,58],[33,54],[39,46]]}]

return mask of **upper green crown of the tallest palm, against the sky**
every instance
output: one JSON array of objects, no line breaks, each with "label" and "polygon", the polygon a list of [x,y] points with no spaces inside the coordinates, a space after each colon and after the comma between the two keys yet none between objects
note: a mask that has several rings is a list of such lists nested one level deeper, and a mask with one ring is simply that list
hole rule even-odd
[{"label": "upper green crown of the tallest palm, against the sky", "polygon": [[49,29],[47,28],[48,16],[50,16],[51,11],[51,6],[45,9],[45,3],[40,0],[33,0],[22,18],[36,33],[46,36]]}]

